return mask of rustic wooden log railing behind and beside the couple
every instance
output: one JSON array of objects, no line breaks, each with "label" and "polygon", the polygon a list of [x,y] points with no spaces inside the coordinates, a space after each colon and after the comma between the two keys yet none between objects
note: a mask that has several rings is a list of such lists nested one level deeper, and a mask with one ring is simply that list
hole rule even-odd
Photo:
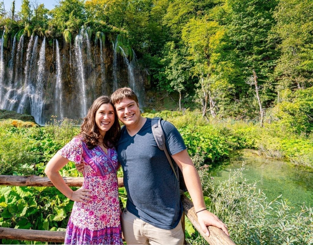
[{"label": "rustic wooden log railing behind and beside the couple", "polygon": [[[80,187],[83,184],[82,177],[63,177],[68,186]],[[54,186],[49,178],[39,176],[11,176],[0,175],[0,186]],[[123,178],[118,178],[118,186],[124,187]],[[198,217],[195,213],[192,202],[185,194],[181,196],[181,201],[184,207],[184,212],[193,226],[203,236],[209,244],[217,245],[233,245],[235,244],[221,229],[209,226],[210,236],[207,237],[202,231]],[[0,227],[0,239],[14,239],[20,241],[41,241],[41,242],[64,242],[65,232],[62,231],[39,231],[25,230]]]}]

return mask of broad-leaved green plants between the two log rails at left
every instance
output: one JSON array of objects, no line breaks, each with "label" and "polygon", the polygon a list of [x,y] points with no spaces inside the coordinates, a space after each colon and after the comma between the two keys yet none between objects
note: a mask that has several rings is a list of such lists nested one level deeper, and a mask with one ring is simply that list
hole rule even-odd
[{"label": "broad-leaved green plants between the two log rails at left", "polygon": [[2,227],[57,230],[66,227],[73,201],[52,187],[0,187]]}]

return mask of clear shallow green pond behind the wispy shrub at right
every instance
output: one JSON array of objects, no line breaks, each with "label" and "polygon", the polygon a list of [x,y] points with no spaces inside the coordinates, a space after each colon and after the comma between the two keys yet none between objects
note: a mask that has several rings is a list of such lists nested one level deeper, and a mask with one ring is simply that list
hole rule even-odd
[{"label": "clear shallow green pond behind the wispy shrub at right", "polygon": [[218,181],[228,178],[230,172],[241,168],[244,164],[244,178],[257,181],[268,200],[282,194],[296,210],[305,203],[313,207],[313,173],[294,167],[291,163],[260,157],[250,151],[234,154],[222,165],[210,169],[210,176]]}]

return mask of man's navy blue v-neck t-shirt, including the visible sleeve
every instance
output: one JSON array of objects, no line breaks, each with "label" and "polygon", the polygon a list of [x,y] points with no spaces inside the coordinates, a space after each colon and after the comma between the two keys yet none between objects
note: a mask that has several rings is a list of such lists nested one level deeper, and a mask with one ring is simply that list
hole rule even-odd
[{"label": "man's navy blue v-neck t-shirt, including the visible sleeve", "polygon": [[[162,127],[170,155],[186,149],[182,136],[171,123],[162,121]],[[117,155],[124,172],[127,210],[155,227],[175,228],[183,211],[179,184],[164,151],[156,144],[151,118],[134,136],[122,128]]]}]

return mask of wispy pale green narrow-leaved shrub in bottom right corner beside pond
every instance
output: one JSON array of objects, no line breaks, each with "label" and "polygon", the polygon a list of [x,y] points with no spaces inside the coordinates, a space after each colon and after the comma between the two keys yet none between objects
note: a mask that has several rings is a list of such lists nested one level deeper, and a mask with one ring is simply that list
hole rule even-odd
[{"label": "wispy pale green narrow-leaved shrub in bottom right corner beside pond", "polygon": [[222,183],[207,183],[206,204],[227,225],[236,244],[311,244],[313,212],[302,207],[295,212],[288,202],[277,197],[268,200],[256,183],[243,177],[239,169]]}]

